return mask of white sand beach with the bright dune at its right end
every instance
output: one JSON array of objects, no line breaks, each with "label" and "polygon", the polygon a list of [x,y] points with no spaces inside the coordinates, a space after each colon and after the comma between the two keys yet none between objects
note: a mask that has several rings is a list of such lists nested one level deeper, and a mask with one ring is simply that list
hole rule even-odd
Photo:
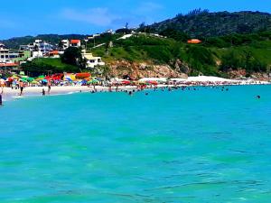
[{"label": "white sand beach with the bright dune at its right end", "polygon": [[[159,78],[152,78],[157,79]],[[258,81],[253,79],[248,80],[236,80],[228,78],[218,77],[189,77],[189,78],[172,78],[167,83],[158,85],[147,85],[144,89],[149,88],[174,88],[174,87],[195,87],[195,86],[236,86],[236,85],[267,85],[270,84],[266,81]],[[45,90],[45,96],[49,95],[63,95],[73,94],[77,92],[107,92],[107,91],[130,91],[139,89],[138,86],[133,85],[112,85],[110,88],[107,86],[52,86],[50,94],[48,93],[48,87],[26,87],[23,88],[22,97],[36,97],[42,96],[42,89]],[[111,89],[111,90],[110,90]],[[142,89],[141,89],[142,90]],[[3,100],[13,100],[22,98],[20,95],[20,89],[4,88]]]}]

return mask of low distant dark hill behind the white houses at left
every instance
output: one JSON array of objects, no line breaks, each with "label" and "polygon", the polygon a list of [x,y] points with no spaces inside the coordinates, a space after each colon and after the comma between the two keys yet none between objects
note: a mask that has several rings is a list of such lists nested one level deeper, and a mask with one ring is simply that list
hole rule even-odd
[{"label": "low distant dark hill behind the white houses at left", "polygon": [[25,36],[25,37],[15,37],[11,38],[9,40],[4,40],[0,42],[4,42],[5,46],[7,46],[10,49],[18,49],[20,45],[25,45],[28,43],[34,42],[34,40],[43,40],[46,42],[51,42],[52,44],[58,44],[61,40],[65,39],[79,39],[83,40],[86,38],[86,35],[81,34],[40,34],[37,36]]}]

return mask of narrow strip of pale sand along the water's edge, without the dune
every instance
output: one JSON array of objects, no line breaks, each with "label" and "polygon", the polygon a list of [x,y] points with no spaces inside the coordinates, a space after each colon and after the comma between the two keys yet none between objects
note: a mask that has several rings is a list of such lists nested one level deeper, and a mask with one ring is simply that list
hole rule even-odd
[{"label": "narrow strip of pale sand along the water's edge, without the dune", "polygon": [[[271,85],[271,83],[258,83],[258,82],[250,82],[250,83],[229,83],[229,84],[192,84],[192,85],[185,85],[185,84],[178,84],[178,85],[157,85],[155,88],[182,88],[182,87],[222,87],[222,86],[258,86],[258,85]],[[42,97],[42,89],[45,90],[45,97],[50,96],[57,96],[57,95],[69,95],[74,93],[91,93],[95,92],[109,92],[109,87],[105,86],[52,86],[51,93],[48,94],[47,87],[26,87],[23,89],[22,97],[19,96],[20,90],[19,89],[12,89],[12,88],[4,88],[4,93],[2,94],[3,102],[15,100],[18,98],[23,97]],[[117,92],[116,86],[112,87],[112,92]],[[118,91],[133,91],[137,90],[138,87],[136,86],[119,86]],[[154,89],[154,86],[146,86],[144,90],[147,89]],[[0,90],[1,91],[1,90]]]}]

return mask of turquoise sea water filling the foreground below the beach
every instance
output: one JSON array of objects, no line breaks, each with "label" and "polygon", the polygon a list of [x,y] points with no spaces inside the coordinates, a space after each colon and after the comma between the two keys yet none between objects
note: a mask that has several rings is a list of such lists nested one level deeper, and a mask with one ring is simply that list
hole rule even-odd
[{"label": "turquoise sea water filling the foreground below the beach", "polygon": [[0,202],[270,202],[271,86],[149,93],[5,103]]}]

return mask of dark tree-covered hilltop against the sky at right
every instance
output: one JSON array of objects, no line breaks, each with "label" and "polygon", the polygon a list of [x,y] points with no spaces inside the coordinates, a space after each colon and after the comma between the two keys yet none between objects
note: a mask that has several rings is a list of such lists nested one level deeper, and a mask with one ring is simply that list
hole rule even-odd
[{"label": "dark tree-covered hilltop against the sky at right", "polygon": [[173,19],[152,25],[141,25],[141,30],[163,32],[174,29],[193,37],[213,37],[233,33],[262,32],[271,29],[271,14],[261,12],[218,12],[197,9],[189,14],[178,14]]}]

